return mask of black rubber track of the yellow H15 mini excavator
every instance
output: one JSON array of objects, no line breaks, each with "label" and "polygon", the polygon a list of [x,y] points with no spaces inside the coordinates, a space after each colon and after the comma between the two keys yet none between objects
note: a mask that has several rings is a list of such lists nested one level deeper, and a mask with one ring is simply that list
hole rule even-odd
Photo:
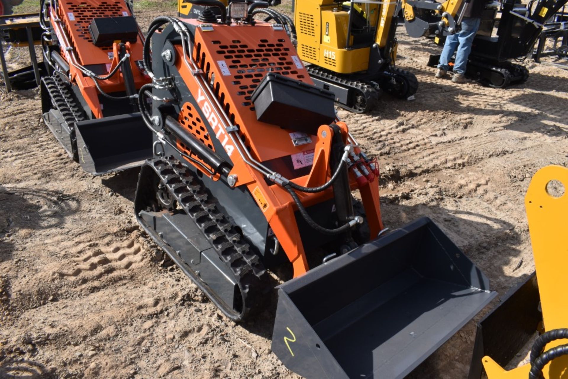
[{"label": "black rubber track of the yellow H15 mini excavator", "polygon": [[352,92],[346,99],[346,102],[336,97],[337,105],[343,109],[352,111],[353,113],[365,113],[377,106],[380,93],[373,85],[361,81],[349,80],[348,78],[338,76],[330,70],[315,65],[306,66],[306,69],[310,77],[315,80],[316,85],[318,85],[318,81],[320,81],[340,86]]}]

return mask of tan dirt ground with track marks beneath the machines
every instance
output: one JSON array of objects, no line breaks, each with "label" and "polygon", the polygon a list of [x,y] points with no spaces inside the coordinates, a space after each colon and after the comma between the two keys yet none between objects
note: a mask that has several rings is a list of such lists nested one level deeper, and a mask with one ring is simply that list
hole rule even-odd
[{"label": "tan dirt ground with track marks beneath the machines", "polygon": [[[527,63],[524,85],[455,85],[426,66],[429,41],[401,29],[399,43],[416,99],[339,111],[379,159],[383,220],[429,216],[504,293],[534,270],[530,178],[568,162],[568,71]],[[271,310],[229,322],[156,262],[132,211],[136,170],[89,176],[41,122],[38,90],[0,98],[0,378],[298,377],[270,352]],[[473,338],[472,322],[413,377],[465,378]]]}]

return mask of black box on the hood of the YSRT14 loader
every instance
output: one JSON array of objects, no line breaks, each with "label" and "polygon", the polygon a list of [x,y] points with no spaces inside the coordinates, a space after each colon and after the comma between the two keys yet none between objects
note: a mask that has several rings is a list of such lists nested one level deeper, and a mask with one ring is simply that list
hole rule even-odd
[{"label": "black box on the hood of the YSRT14 loader", "polygon": [[333,92],[276,73],[268,73],[251,96],[257,119],[316,135],[335,120]]}]

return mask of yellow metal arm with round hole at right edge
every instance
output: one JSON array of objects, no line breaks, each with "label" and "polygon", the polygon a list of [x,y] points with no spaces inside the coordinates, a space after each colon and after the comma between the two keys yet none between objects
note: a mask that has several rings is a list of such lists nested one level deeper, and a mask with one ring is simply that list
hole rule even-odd
[{"label": "yellow metal arm with round hole at right edge", "polygon": [[[550,186],[549,184],[555,184]],[[552,191],[556,188],[556,191]],[[550,192],[549,192],[550,191]],[[546,331],[568,327],[568,168],[546,166],[534,174],[525,209],[531,234],[534,266]],[[568,343],[557,340],[545,351]],[[527,379],[530,364],[506,371],[490,357],[483,357],[489,379]],[[568,356],[559,357],[542,370],[545,379],[568,377]]]}]

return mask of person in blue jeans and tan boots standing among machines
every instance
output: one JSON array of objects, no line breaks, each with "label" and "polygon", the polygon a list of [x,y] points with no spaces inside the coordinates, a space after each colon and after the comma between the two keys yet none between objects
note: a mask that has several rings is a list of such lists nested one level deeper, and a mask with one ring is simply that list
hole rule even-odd
[{"label": "person in blue jeans and tan boots standing among machines", "polygon": [[470,2],[464,4],[466,9],[460,24],[461,30],[446,37],[446,43],[444,44],[444,49],[442,49],[440,64],[438,64],[438,70],[436,72],[438,79],[448,74],[450,60],[452,60],[452,56],[456,53],[452,82],[464,83],[467,81],[465,77],[467,58],[471,52],[471,44],[473,43],[475,34],[477,34],[477,30],[479,29],[481,14],[483,9],[485,9],[486,3],[486,0],[470,0]]}]

